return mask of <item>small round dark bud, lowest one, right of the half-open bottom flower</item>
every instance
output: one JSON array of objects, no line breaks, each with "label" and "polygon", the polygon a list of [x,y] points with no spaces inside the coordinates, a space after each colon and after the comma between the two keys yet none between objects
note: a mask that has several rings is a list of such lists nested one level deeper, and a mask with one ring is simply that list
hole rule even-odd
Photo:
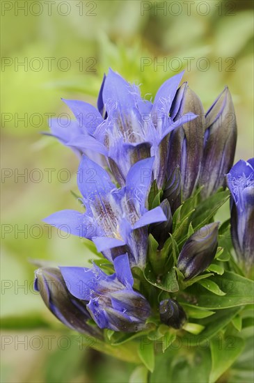
[{"label": "small round dark bud, lowest one, right of the half-open bottom flower", "polygon": [[174,299],[164,299],[159,304],[159,317],[161,322],[174,329],[181,329],[186,322],[186,313]]}]

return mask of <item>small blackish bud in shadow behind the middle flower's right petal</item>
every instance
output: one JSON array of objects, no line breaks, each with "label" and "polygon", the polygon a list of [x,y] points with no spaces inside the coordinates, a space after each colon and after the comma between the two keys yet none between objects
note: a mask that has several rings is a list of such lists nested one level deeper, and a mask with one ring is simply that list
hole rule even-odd
[{"label": "small blackish bud in shadow behind the middle flower's right petal", "polygon": [[172,229],[172,214],[168,200],[164,199],[164,201],[161,202],[160,207],[167,217],[167,221],[157,222],[149,226],[149,232],[159,244],[158,250],[161,250],[164,247],[164,243],[168,239]]}]

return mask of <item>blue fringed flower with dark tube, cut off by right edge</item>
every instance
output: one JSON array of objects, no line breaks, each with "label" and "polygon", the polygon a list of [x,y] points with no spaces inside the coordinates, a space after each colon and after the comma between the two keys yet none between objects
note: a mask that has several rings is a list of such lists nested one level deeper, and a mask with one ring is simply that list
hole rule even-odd
[{"label": "blue fringed flower with dark tube, cut off by right edge", "polygon": [[231,196],[232,243],[248,272],[254,260],[254,158],[240,159],[226,175]]}]

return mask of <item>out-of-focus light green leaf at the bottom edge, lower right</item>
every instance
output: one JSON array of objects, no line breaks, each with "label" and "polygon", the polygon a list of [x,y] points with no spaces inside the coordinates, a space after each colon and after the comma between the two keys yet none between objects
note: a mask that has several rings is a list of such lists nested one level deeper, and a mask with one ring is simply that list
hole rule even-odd
[{"label": "out-of-focus light green leaf at the bottom edge, lower right", "polygon": [[210,343],[212,354],[212,370],[209,376],[209,383],[214,383],[234,363],[242,350],[244,340],[236,336],[216,336]]}]

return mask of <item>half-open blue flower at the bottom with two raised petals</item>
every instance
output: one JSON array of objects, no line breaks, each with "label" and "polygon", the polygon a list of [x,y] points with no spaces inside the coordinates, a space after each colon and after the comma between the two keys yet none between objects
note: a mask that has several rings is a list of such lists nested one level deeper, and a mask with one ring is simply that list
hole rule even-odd
[{"label": "half-open blue flower at the bottom with two raised petals", "polygon": [[61,267],[70,293],[89,301],[88,311],[101,329],[134,332],[145,327],[150,304],[133,290],[134,283],[127,254],[113,261],[115,274],[107,275],[100,267]]}]

